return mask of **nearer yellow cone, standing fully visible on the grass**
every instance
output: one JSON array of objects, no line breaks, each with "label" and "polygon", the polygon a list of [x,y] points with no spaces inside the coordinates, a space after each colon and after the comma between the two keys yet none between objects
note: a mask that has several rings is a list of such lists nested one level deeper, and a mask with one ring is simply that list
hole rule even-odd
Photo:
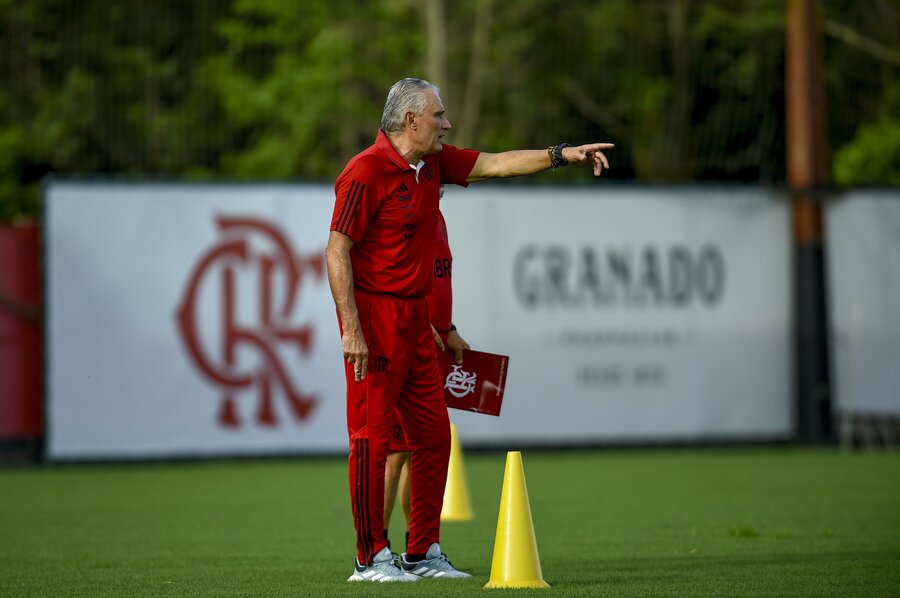
[{"label": "nearer yellow cone, standing fully visible on the grass", "polygon": [[506,473],[500,496],[500,516],[494,540],[491,579],[485,588],[549,588],[541,573],[541,559],[531,521],[522,453],[506,454]]}]

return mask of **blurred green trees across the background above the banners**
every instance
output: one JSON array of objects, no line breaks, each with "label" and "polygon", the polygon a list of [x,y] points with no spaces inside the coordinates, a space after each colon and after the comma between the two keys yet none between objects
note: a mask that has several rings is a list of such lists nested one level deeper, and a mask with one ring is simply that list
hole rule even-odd
[{"label": "blurred green trees across the background above the banners", "polygon": [[[897,184],[900,0],[822,5],[834,179]],[[0,0],[0,220],[52,173],[331,179],[402,76],[440,85],[456,145],[783,181],[783,63],[783,0]]]}]

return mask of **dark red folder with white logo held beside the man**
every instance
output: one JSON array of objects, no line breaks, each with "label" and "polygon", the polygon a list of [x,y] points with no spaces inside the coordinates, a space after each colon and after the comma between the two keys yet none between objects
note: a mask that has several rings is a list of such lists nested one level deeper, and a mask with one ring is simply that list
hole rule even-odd
[{"label": "dark red folder with white logo held beside the man", "polygon": [[440,355],[447,407],[499,416],[509,357],[467,350],[463,362],[456,363],[453,351]]}]

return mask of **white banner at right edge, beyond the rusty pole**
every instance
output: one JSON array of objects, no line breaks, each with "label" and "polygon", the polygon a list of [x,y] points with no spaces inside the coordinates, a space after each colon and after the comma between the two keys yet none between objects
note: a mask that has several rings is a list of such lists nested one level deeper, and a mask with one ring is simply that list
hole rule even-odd
[{"label": "white banner at right edge, beyond the rusty pole", "polygon": [[900,193],[853,191],[826,217],[837,411],[900,415]]}]

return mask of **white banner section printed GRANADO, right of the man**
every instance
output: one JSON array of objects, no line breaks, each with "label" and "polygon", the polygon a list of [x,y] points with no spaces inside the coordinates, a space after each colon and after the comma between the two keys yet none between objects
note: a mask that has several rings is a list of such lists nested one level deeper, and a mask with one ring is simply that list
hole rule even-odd
[{"label": "white banner section printed GRANADO, right of the man", "polygon": [[454,322],[510,356],[484,441],[791,434],[787,206],[739,188],[448,190]]}]

